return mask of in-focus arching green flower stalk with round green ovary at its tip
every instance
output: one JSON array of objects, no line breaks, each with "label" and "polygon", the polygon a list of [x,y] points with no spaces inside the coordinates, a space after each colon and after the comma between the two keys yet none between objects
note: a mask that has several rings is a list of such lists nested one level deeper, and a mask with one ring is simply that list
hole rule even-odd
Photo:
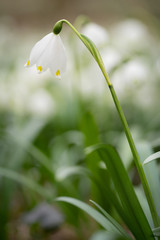
[{"label": "in-focus arching green flower stalk with round green ovary at its tip", "polygon": [[156,207],[155,207],[152,195],[151,195],[151,191],[150,191],[150,188],[149,188],[149,185],[148,185],[148,182],[147,182],[147,179],[146,179],[146,176],[145,176],[145,173],[144,173],[144,170],[143,170],[143,167],[142,167],[142,164],[141,164],[141,161],[140,161],[140,158],[139,158],[139,155],[138,155],[138,152],[137,152],[132,134],[131,134],[130,129],[128,127],[126,118],[124,116],[123,110],[122,110],[121,105],[119,103],[119,100],[118,100],[118,97],[117,97],[116,92],[114,90],[114,87],[113,87],[113,85],[112,85],[112,83],[109,79],[109,76],[106,72],[106,69],[105,69],[103,60],[101,58],[101,55],[100,55],[97,47],[95,46],[95,44],[88,37],[79,33],[77,31],[77,29],[70,22],[68,22],[65,19],[62,19],[55,24],[55,26],[53,28],[53,33],[54,34],[58,35],[61,32],[62,27],[63,27],[63,23],[66,23],[75,32],[75,34],[80,38],[80,40],[84,43],[84,45],[87,47],[87,49],[90,51],[90,53],[92,54],[92,56],[96,60],[97,64],[99,65],[99,67],[100,67],[100,69],[101,69],[101,71],[104,75],[104,78],[105,78],[105,80],[107,82],[107,85],[110,89],[113,101],[115,103],[117,112],[119,114],[120,120],[122,122],[124,131],[125,131],[125,134],[126,134],[129,146],[130,146],[130,149],[132,151],[133,158],[134,158],[134,161],[135,161],[135,164],[136,164],[136,167],[137,167],[137,170],[138,170],[141,182],[142,182],[142,186],[143,186],[143,189],[144,189],[147,201],[148,201],[148,205],[149,205],[149,208],[150,208],[150,211],[151,211],[151,215],[152,215],[152,218],[153,218],[154,225],[155,225],[155,227],[158,227],[158,226],[160,226],[160,221],[159,221],[159,217],[157,215],[157,211],[156,211]]}]

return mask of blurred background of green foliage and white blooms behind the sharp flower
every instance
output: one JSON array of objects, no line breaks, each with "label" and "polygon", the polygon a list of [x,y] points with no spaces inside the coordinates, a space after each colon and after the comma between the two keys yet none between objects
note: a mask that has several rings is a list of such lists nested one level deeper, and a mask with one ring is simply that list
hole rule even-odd
[{"label": "blurred background of green foliage and white blooms behind the sharp flower", "polygon": [[[94,239],[99,227],[57,196],[92,198],[116,216],[99,186],[110,184],[84,148],[111,143],[139,185],[113,101],[96,63],[74,33],[61,37],[68,67],[61,80],[25,69],[33,45],[66,18],[96,43],[137,146],[160,150],[158,0],[2,0],[0,2],[0,239]],[[87,21],[86,21],[87,19]],[[149,153],[148,153],[149,154]],[[147,156],[146,156],[147,157]],[[98,176],[101,176],[101,180]],[[107,178],[107,179],[106,179]],[[52,200],[51,200],[52,199]],[[48,201],[63,212],[47,231],[24,213]],[[118,218],[118,217],[117,217]],[[63,221],[62,221],[63,222]],[[87,227],[86,227],[86,224]]]}]

